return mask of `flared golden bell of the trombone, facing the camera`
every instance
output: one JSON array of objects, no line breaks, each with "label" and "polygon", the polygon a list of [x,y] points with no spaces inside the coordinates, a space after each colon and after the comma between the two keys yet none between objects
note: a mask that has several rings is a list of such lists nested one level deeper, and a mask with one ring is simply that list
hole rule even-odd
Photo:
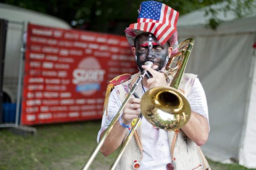
[{"label": "flared golden bell of the trombone, facing the camera", "polygon": [[181,92],[172,87],[154,87],[141,98],[141,113],[153,126],[171,131],[190,119],[191,109]]}]

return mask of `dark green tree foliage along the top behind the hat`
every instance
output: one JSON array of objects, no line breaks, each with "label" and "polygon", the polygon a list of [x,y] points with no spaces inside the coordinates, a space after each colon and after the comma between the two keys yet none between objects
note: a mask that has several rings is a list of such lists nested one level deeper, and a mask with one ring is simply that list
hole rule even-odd
[{"label": "dark green tree foliage along the top behind the hat", "polygon": [[[46,13],[64,19],[74,28],[123,34],[125,27],[135,23],[138,8],[143,0],[1,0],[30,10]],[[217,13],[231,11],[237,17],[251,10],[254,0],[158,0],[184,15],[202,7],[205,15],[211,16],[209,25],[216,28],[221,22]],[[214,9],[209,5],[225,2],[223,8]]]}]

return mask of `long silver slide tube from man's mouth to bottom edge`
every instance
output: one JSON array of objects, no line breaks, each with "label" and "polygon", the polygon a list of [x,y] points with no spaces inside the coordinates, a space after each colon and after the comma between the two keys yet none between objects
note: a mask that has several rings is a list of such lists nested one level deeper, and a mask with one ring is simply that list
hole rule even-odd
[{"label": "long silver slide tube from man's mouth to bottom edge", "polygon": [[83,170],[88,170],[88,168],[90,167],[91,163],[93,162],[94,158],[96,157],[98,151],[100,150],[101,146],[103,145],[104,141],[106,140],[106,137],[108,136],[108,134],[111,132],[111,130],[113,129],[113,125],[116,123],[116,121],[119,119],[121,112],[123,111],[123,108],[125,107],[125,105],[127,104],[128,100],[130,99],[130,97],[133,95],[135,89],[138,87],[138,84],[141,82],[141,80],[144,78],[145,74],[147,73],[147,70],[143,70],[143,72],[140,74],[138,80],[136,81],[136,83],[133,85],[132,89],[130,90],[130,92],[128,93],[126,99],[123,101],[123,104],[121,105],[121,107],[119,108],[118,112],[116,113],[116,116],[113,118],[113,120],[111,121],[111,123],[109,124],[108,128],[106,129],[105,133],[103,134],[103,136],[101,137],[100,141],[98,142],[98,145],[94,148],[94,150],[92,151],[89,160],[87,161],[86,165],[84,165]]}]

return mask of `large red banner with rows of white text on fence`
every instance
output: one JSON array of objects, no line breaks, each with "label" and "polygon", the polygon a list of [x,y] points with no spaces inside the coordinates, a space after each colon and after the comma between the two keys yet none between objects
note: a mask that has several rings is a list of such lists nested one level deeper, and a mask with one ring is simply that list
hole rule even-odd
[{"label": "large red banner with rows of white text on fence", "polygon": [[137,71],[125,36],[29,24],[21,124],[100,119],[109,80]]}]

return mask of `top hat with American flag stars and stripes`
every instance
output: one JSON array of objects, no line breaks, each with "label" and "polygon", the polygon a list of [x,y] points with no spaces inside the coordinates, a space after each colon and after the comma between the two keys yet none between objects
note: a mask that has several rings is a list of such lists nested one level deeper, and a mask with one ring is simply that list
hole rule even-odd
[{"label": "top hat with American flag stars and stripes", "polygon": [[176,31],[178,17],[179,12],[163,3],[153,0],[142,2],[137,19],[138,23],[130,24],[125,30],[128,43],[130,46],[135,46],[136,36],[150,32],[156,36],[160,44],[164,45],[169,41],[175,49],[178,45]]}]

